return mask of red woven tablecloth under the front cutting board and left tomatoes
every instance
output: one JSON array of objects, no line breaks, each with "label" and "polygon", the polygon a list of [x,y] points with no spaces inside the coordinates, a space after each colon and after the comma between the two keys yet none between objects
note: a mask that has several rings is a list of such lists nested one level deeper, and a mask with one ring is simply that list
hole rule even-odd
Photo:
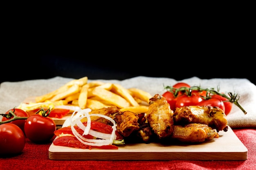
[{"label": "red woven tablecloth under the front cutting board and left tomatoes", "polygon": [[83,169],[83,170],[256,170],[256,129],[233,129],[248,149],[243,161],[59,161],[50,160],[48,149],[51,143],[34,144],[27,139],[21,155],[0,157],[0,169]]}]

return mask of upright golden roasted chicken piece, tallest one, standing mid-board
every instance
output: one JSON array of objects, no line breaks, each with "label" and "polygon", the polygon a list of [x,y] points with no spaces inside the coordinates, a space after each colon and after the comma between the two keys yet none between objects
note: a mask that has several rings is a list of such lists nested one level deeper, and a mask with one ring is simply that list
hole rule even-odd
[{"label": "upright golden roasted chicken piece, tallest one, standing mid-board", "polygon": [[173,133],[173,111],[166,98],[155,94],[149,99],[147,120],[159,139],[171,136]]}]

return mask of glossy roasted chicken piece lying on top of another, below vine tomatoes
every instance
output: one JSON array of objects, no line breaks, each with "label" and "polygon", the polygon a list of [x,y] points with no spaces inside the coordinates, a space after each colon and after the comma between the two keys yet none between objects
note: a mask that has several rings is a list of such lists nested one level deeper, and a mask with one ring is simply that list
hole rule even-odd
[{"label": "glossy roasted chicken piece lying on top of another, below vine tomatoes", "polygon": [[185,106],[176,108],[173,113],[174,124],[201,123],[213,129],[227,131],[227,118],[222,109],[212,106]]}]

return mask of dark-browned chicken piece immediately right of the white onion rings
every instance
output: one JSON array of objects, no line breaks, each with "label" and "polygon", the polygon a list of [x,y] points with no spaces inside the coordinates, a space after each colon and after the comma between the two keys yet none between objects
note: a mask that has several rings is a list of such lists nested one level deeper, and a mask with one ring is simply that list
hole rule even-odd
[{"label": "dark-browned chicken piece immediately right of the white onion rings", "polygon": [[124,137],[129,136],[133,131],[139,129],[139,117],[131,111],[116,114],[113,119],[117,123],[117,131]]}]

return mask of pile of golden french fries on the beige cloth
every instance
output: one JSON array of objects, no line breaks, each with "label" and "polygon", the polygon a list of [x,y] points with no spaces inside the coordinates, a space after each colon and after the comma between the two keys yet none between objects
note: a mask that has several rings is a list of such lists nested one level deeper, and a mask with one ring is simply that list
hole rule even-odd
[{"label": "pile of golden french fries on the beige cloth", "polygon": [[152,96],[141,89],[126,89],[116,83],[103,83],[92,81],[88,83],[88,77],[74,79],[62,87],[37,96],[36,102],[58,102],[63,105],[78,106],[81,109],[101,109],[103,107],[116,106],[121,111],[134,113],[146,113],[149,99]]}]

